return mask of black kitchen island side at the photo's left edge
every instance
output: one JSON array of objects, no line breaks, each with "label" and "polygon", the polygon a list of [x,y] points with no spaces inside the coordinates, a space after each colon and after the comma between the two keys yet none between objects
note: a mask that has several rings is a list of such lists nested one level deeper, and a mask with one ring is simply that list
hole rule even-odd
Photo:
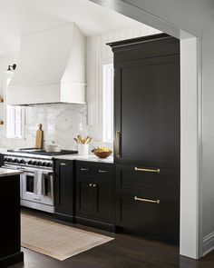
[{"label": "black kitchen island side at the photo's left edge", "polygon": [[0,180],[0,267],[23,262],[20,235],[20,179],[19,175]]}]

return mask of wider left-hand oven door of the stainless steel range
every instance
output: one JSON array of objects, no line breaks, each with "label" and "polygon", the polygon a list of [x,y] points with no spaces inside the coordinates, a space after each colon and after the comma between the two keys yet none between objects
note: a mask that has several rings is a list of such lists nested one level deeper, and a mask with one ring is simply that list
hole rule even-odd
[{"label": "wider left-hand oven door of the stainless steel range", "polygon": [[37,171],[24,171],[21,175],[22,199],[41,203],[41,180]]}]

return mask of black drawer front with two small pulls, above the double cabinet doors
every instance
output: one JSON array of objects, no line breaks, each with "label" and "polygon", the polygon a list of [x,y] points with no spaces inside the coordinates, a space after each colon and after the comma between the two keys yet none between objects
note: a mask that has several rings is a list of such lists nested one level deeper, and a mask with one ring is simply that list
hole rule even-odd
[{"label": "black drawer front with two small pulls, above the double cabinet doors", "polygon": [[76,174],[77,176],[99,176],[99,177],[112,177],[113,164],[101,164],[77,161]]}]

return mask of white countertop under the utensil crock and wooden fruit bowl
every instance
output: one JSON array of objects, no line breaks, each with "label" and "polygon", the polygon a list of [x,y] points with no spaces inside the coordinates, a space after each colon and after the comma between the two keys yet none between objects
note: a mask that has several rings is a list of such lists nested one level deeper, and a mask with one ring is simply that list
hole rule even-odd
[{"label": "white countertop under the utensil crock and wooden fruit bowl", "polygon": [[63,160],[80,160],[80,161],[91,161],[99,163],[110,163],[113,164],[113,156],[110,155],[107,158],[99,158],[94,154],[79,155],[79,154],[63,154],[54,155],[53,159],[63,159]]}]

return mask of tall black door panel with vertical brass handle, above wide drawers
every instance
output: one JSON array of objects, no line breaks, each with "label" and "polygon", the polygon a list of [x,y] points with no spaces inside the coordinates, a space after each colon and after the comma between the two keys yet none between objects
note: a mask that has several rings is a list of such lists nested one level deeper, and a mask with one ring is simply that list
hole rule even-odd
[{"label": "tall black door panel with vertical brass handle, above wide drawers", "polygon": [[121,158],[165,166],[180,162],[180,56],[115,65],[115,130]]}]

